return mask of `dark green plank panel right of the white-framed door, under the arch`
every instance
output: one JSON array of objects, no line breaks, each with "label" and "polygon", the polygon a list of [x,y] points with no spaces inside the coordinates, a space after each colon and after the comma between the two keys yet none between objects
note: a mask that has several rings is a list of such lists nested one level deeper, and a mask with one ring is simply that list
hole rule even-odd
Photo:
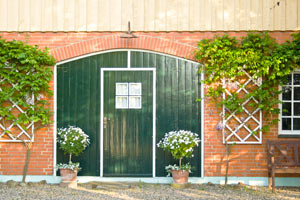
[{"label": "dark green plank panel right of the white-framed door, under the arch", "polygon": [[[201,133],[201,77],[199,65],[188,61],[147,52],[131,52],[131,67],[156,68],[156,141],[172,130]],[[156,149],[156,176],[165,176],[165,166],[176,163],[169,152]],[[185,160],[193,166],[191,176],[201,176],[201,147],[194,158]]]}]

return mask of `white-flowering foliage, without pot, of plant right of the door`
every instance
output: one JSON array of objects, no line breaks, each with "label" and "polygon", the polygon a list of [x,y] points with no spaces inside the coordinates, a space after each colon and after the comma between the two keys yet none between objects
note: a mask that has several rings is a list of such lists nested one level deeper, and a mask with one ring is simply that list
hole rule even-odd
[{"label": "white-flowering foliage, without pot, of plant right of the door", "polygon": [[191,166],[189,163],[182,165],[183,158],[193,157],[194,147],[198,146],[200,142],[199,136],[191,131],[179,130],[170,131],[157,144],[158,147],[168,150],[173,158],[179,160],[179,166],[169,165],[166,167],[167,172],[170,170],[189,170]]}]

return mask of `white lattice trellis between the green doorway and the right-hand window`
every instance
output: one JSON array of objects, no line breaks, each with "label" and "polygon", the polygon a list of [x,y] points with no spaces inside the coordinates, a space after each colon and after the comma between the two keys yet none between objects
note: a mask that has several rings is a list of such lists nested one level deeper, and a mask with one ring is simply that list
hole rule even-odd
[{"label": "white lattice trellis between the green doorway and the right-hand window", "polygon": [[[249,90],[261,85],[261,78],[253,78],[245,70],[242,72],[244,73],[243,78],[232,83],[233,90],[231,90],[232,86],[229,89],[226,82],[223,81],[224,99],[232,96],[231,91],[243,96],[249,94]],[[258,107],[253,108],[250,104],[258,104],[257,99],[254,97],[246,99],[242,103],[243,112],[231,111],[223,106],[223,143],[227,141],[229,144],[261,144],[262,112]]]}]

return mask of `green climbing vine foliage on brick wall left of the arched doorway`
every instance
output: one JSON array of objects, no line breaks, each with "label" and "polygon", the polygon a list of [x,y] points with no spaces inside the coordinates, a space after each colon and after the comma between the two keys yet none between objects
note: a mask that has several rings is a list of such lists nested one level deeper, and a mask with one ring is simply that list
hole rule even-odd
[{"label": "green climbing vine foliage on brick wall left of the arched doorway", "polygon": [[[21,41],[0,38],[0,118],[25,127],[31,122],[50,123],[51,111],[43,97],[52,95],[49,82],[55,59],[48,49],[40,50]],[[13,101],[25,112],[16,114]],[[6,132],[10,130],[6,128]]]}]

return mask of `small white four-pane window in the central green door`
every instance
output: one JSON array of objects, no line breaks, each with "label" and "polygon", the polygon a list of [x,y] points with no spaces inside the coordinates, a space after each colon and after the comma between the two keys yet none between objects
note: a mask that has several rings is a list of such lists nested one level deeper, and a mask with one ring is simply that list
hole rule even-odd
[{"label": "small white four-pane window in the central green door", "polygon": [[141,109],[142,84],[116,83],[116,109]]}]

